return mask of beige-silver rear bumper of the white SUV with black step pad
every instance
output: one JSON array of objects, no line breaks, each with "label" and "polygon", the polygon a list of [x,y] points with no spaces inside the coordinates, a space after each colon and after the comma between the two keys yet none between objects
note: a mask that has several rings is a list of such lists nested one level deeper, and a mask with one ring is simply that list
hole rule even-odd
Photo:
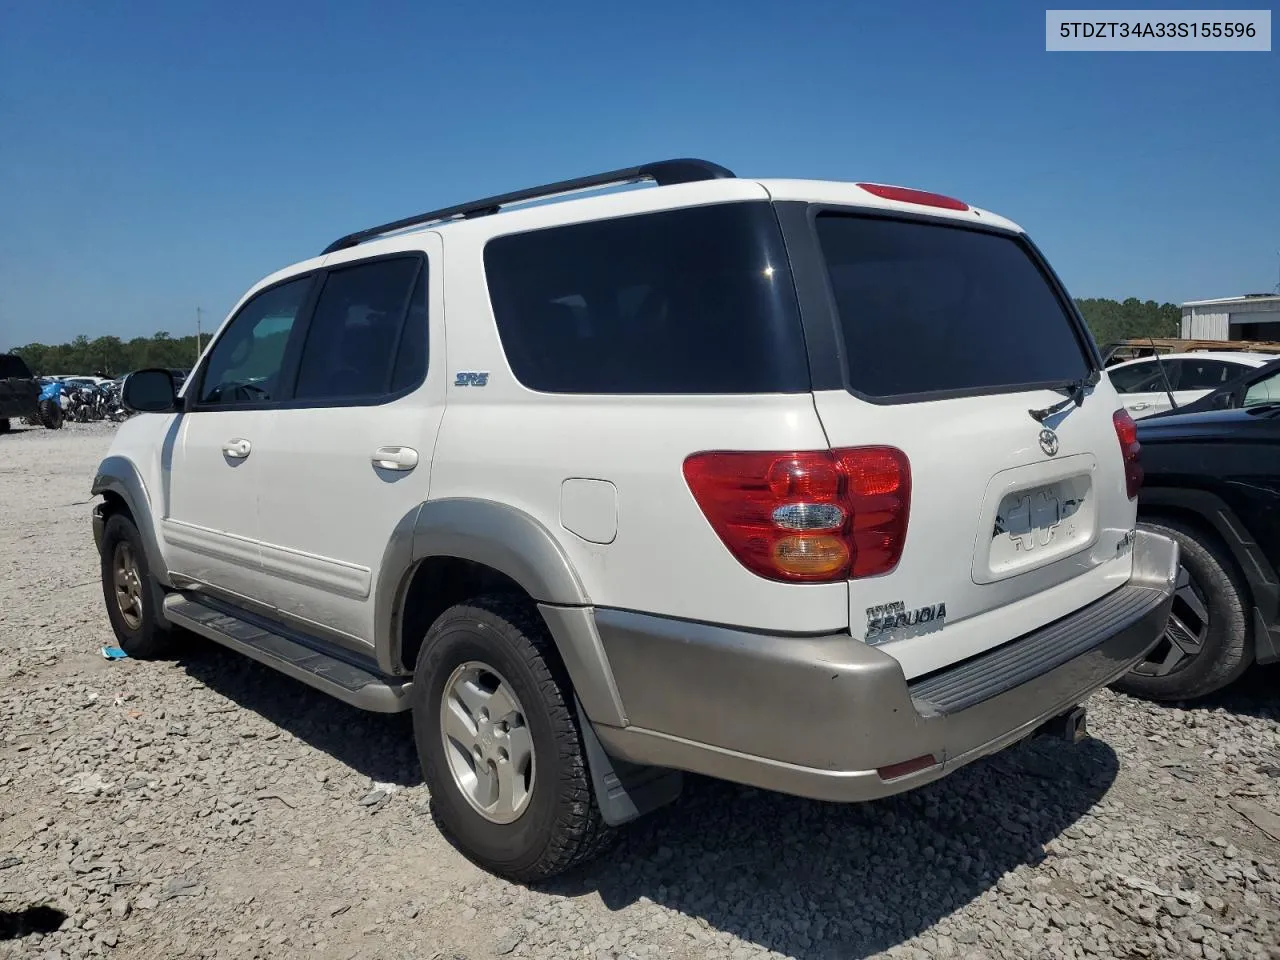
[{"label": "beige-silver rear bumper of the white SUV with black step pad", "polygon": [[[774,636],[621,611],[596,626],[626,727],[605,749],[820,800],[897,794],[1032,733],[1123,676],[1158,640],[1172,540],[1138,531],[1129,582],[995,650],[908,682],[849,635]],[[915,772],[892,769],[918,758]]]}]

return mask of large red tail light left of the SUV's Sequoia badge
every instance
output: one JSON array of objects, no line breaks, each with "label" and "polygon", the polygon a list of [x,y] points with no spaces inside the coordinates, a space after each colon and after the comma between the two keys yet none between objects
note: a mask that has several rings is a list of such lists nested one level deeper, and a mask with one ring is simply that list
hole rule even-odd
[{"label": "large red tail light left of the SUV's Sequoia badge", "polygon": [[911,467],[895,447],[695,453],[685,480],[730,552],[769,580],[874,576],[902,556]]}]

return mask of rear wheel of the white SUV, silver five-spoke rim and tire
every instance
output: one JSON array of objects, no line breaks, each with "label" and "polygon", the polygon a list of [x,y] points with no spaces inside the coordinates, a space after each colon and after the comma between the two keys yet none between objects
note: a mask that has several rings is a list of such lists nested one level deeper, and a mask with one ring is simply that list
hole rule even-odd
[{"label": "rear wheel of the white SUV, silver five-spoke rim and tire", "polygon": [[604,846],[568,677],[529,603],[485,596],[445,611],[412,690],[431,808],[463,854],[529,882]]}]

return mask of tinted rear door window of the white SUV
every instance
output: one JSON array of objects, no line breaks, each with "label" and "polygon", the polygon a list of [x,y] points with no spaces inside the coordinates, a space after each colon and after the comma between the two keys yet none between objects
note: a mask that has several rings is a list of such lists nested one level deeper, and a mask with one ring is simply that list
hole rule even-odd
[{"label": "tinted rear door window of the white SUV", "polygon": [[[330,270],[316,300],[298,365],[300,401],[379,397],[421,383],[426,372],[426,270],[419,257],[372,260]],[[413,310],[413,305],[420,310]],[[406,316],[415,324],[398,362]],[[417,325],[421,326],[419,330]]]}]

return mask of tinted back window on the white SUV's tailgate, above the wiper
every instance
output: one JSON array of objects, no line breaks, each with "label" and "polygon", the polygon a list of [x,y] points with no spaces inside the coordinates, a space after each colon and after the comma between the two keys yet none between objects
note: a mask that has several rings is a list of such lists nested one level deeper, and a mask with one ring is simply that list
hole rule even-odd
[{"label": "tinted back window on the white SUV's tailgate, above the wiper", "polygon": [[1062,302],[1012,237],[823,214],[818,238],[856,393],[993,393],[1089,372]]}]

